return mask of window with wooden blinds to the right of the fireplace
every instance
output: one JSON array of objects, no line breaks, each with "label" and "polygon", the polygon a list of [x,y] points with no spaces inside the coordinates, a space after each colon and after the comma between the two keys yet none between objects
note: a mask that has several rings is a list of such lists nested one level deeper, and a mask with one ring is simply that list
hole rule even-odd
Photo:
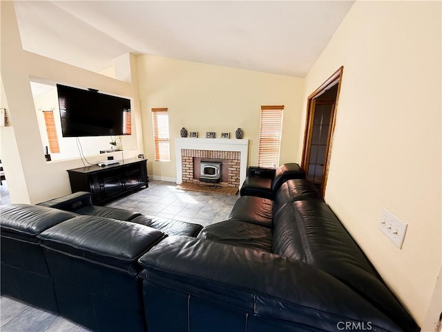
[{"label": "window with wooden blinds to the right of the fireplace", "polygon": [[277,167],[279,165],[283,109],[284,105],[261,106],[259,167]]}]

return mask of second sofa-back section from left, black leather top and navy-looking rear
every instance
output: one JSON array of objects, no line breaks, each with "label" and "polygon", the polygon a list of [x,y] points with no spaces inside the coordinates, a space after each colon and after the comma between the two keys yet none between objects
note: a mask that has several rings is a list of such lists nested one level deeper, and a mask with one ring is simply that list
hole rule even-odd
[{"label": "second sofa-back section from left, black leather top and navy-looking rear", "polygon": [[159,230],[99,216],[42,232],[61,315],[93,331],[144,331],[137,259],[163,238]]}]

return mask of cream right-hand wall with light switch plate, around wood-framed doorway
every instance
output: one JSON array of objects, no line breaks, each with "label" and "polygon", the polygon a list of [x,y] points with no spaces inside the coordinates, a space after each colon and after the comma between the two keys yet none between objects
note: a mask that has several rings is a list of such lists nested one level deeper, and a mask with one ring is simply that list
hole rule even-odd
[{"label": "cream right-hand wall with light switch plate, around wood-framed doorway", "polygon": [[[441,2],[356,1],[309,71],[304,102],[340,66],[325,199],[430,331],[441,266]],[[408,224],[402,250],[378,230],[384,207]]]}]

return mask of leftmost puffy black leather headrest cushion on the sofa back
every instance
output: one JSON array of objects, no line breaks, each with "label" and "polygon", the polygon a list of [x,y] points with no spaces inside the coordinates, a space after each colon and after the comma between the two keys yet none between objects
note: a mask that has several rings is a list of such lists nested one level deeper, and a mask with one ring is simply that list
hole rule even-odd
[{"label": "leftmost puffy black leather headrest cushion on the sofa back", "polygon": [[76,214],[30,204],[0,205],[1,231],[35,237]]}]

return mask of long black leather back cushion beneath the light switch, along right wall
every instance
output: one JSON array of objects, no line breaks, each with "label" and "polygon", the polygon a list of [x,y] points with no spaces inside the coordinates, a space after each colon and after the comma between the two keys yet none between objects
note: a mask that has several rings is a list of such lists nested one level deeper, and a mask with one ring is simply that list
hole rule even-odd
[{"label": "long black leather back cushion beneath the light switch, along right wall", "polygon": [[320,201],[291,204],[307,264],[336,277],[398,324],[414,326],[329,205]]}]

